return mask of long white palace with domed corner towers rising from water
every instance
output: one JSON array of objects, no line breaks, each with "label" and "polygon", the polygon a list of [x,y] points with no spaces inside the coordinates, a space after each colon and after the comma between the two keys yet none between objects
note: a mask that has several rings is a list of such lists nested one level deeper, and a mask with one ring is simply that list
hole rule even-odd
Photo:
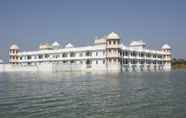
[{"label": "long white palace with domed corner towers rising from water", "polygon": [[4,71],[167,71],[171,70],[171,47],[147,49],[146,44],[121,43],[117,33],[95,39],[91,46],[74,47],[58,42],[41,44],[37,51],[21,52],[17,45],[9,50],[9,64]]}]

